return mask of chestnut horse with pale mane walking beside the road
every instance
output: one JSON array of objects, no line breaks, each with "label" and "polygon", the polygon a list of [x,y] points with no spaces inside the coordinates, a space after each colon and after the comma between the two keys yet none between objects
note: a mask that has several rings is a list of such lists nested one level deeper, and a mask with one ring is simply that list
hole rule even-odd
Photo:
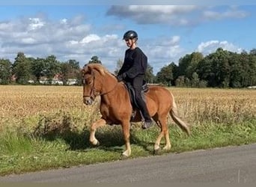
[{"label": "chestnut horse with pale mane walking beside the road", "polygon": [[[130,122],[140,122],[142,117],[140,112],[135,113],[132,117],[132,104],[129,93],[124,82],[118,82],[116,77],[106,70],[101,64],[87,64],[82,68],[83,84],[83,102],[85,105],[91,105],[97,96],[100,96],[100,114],[99,120],[91,124],[90,142],[93,145],[99,145],[95,138],[95,132],[98,127],[105,125],[119,124],[122,127],[126,150],[122,156],[129,157],[132,153],[129,136]],[[189,124],[185,123],[177,114],[177,105],[174,101],[173,94],[159,85],[150,85],[149,90],[144,93],[150,117],[156,122],[161,129],[154,144],[154,153],[160,150],[160,141],[165,137],[165,147],[163,150],[171,149],[171,142],[168,133],[167,117],[168,114],[175,123],[190,135]]]}]

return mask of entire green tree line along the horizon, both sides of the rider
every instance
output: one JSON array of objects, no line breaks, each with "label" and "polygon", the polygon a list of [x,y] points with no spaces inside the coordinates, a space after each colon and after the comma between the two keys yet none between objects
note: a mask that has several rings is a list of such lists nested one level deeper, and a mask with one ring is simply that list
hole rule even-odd
[{"label": "entire green tree line along the horizon, both sides of the rider", "polygon": [[[88,63],[100,63],[93,56]],[[121,68],[123,61],[117,61],[115,73]],[[81,85],[81,68],[79,61],[58,61],[55,55],[46,58],[27,58],[18,52],[13,64],[8,59],[0,58],[0,84],[34,84],[46,79],[51,84],[54,78],[67,85],[68,79],[76,79]],[[222,48],[204,56],[201,52],[192,52],[179,59],[178,64],[171,62],[162,67],[156,75],[148,64],[145,79],[148,83],[165,86],[194,88],[246,88],[256,85],[256,49],[250,52],[230,52]]]}]

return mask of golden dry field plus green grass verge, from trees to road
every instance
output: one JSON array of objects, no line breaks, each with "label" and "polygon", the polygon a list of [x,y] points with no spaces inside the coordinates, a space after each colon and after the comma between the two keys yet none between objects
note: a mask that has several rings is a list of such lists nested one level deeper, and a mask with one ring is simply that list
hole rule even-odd
[{"label": "golden dry field plus green grass verge, from trees to road", "polygon": [[[0,86],[0,91],[0,175],[121,159],[121,126],[98,129],[100,146],[89,144],[90,124],[100,114],[97,103],[82,105],[82,88]],[[162,154],[256,142],[255,91],[171,91],[192,135],[168,120],[172,147]],[[142,130],[140,123],[132,124],[130,158],[153,156],[158,133],[156,126]]]}]

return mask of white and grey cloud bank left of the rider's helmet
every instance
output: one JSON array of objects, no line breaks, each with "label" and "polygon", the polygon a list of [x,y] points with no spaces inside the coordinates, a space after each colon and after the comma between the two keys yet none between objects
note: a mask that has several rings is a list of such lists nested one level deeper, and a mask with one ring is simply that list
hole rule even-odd
[{"label": "white and grey cloud bank left of the rider's helmet", "polygon": [[10,61],[18,52],[24,52],[34,58],[55,55],[60,61],[76,59],[81,66],[93,55],[107,58],[110,63],[123,55],[122,45],[116,34],[92,33],[91,25],[82,16],[55,21],[45,16],[29,16],[0,22],[0,58]]}]

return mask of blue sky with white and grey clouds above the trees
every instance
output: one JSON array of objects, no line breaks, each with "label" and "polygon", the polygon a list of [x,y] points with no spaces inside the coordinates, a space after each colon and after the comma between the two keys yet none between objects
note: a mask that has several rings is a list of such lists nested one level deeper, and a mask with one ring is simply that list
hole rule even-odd
[{"label": "blue sky with white and grey clouds above the trees", "polygon": [[12,62],[24,52],[74,59],[82,67],[97,55],[114,72],[124,59],[128,30],[138,33],[154,74],[192,52],[256,48],[254,1],[8,0],[0,2],[0,12],[0,58]]}]

